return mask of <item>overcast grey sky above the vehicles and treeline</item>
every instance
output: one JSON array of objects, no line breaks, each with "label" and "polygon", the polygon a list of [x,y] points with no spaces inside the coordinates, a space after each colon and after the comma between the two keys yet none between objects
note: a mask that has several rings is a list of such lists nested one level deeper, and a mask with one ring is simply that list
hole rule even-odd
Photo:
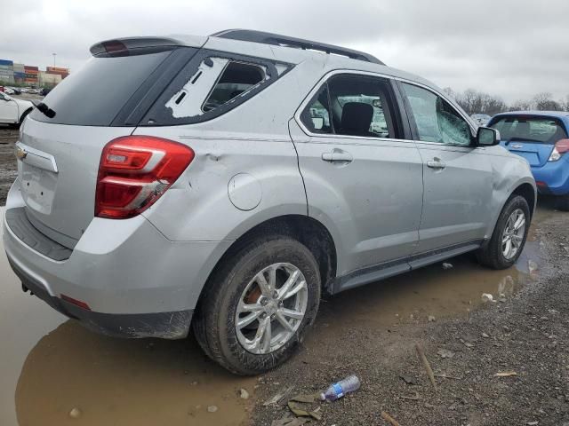
[{"label": "overcast grey sky above the vehicles and treeline", "polygon": [[25,0],[2,5],[0,59],[76,70],[121,36],[250,28],[369,51],[455,91],[569,95],[569,0]]}]

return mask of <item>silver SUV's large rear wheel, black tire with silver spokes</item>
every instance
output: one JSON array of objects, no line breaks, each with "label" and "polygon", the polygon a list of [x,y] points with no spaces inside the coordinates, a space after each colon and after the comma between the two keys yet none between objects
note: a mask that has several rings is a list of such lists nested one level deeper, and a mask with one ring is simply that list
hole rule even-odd
[{"label": "silver SUV's large rear wheel, black tire with silver spokes", "polygon": [[[275,272],[271,275],[273,270]],[[290,274],[287,275],[288,273]],[[290,281],[296,284],[291,285],[289,292],[283,290],[283,295],[292,293],[292,288],[301,289],[279,304],[275,295],[283,288],[284,281],[293,277],[293,274],[296,281]],[[265,292],[261,292],[261,286],[257,283],[260,275],[268,277],[269,283],[276,282],[276,291],[272,292],[276,298],[269,299]],[[275,279],[271,280],[271,276]],[[299,241],[284,236],[265,236],[247,241],[216,268],[205,284],[192,320],[196,340],[211,359],[232,373],[264,373],[282,364],[297,350],[317,316],[320,292],[321,280],[317,261]],[[262,300],[263,298],[265,300]],[[262,302],[268,304],[262,308],[265,311],[260,312],[258,319],[243,328],[237,328],[237,319],[243,323],[249,315],[255,313],[238,313],[238,305],[241,306],[239,303],[242,300],[245,306],[254,304],[257,309]],[[295,305],[288,310],[286,304],[290,303]],[[285,329],[281,322],[284,311],[281,310],[286,309],[298,314],[302,306],[305,307],[304,316],[301,319],[286,317],[287,323],[290,321],[293,326],[289,324],[291,328]],[[259,334],[263,322],[271,323],[268,327],[271,332],[282,331],[273,336],[276,343],[270,338],[266,339],[270,334],[264,334],[257,347],[247,340],[247,334],[252,335],[251,341],[255,342],[254,336]],[[278,338],[278,335],[281,337]],[[286,335],[287,339],[284,338]]]}]

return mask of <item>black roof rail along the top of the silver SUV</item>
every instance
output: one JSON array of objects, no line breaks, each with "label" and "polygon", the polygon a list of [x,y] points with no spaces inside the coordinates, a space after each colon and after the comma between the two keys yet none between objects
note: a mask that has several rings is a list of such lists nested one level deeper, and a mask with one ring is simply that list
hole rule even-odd
[{"label": "black roof rail along the top of the silver SUV", "polygon": [[233,40],[242,40],[244,42],[254,42],[263,44],[274,44],[276,46],[293,47],[302,50],[325,51],[326,53],[347,56],[350,59],[365,60],[374,64],[385,65],[380,59],[375,58],[364,51],[354,51],[333,44],[325,44],[311,42],[302,38],[279,36],[278,34],[265,33],[263,31],[254,31],[252,29],[225,29],[214,33],[212,37],[230,38]]}]

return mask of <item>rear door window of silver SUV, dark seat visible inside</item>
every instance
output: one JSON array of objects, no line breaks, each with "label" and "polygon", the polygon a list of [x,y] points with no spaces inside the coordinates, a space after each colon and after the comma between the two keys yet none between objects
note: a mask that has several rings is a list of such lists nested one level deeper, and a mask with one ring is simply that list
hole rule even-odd
[{"label": "rear door window of silver SUV, dark seat visible inside", "polygon": [[314,133],[398,138],[389,84],[364,75],[337,75],[309,102],[301,120]]}]

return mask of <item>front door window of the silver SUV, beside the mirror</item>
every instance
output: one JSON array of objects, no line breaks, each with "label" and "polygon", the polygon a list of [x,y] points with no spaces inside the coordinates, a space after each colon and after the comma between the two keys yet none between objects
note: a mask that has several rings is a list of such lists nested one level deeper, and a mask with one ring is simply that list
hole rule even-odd
[{"label": "front door window of the silver SUV, beside the mirror", "polygon": [[445,99],[413,84],[403,83],[403,88],[419,140],[445,145],[470,145],[469,123]]}]

